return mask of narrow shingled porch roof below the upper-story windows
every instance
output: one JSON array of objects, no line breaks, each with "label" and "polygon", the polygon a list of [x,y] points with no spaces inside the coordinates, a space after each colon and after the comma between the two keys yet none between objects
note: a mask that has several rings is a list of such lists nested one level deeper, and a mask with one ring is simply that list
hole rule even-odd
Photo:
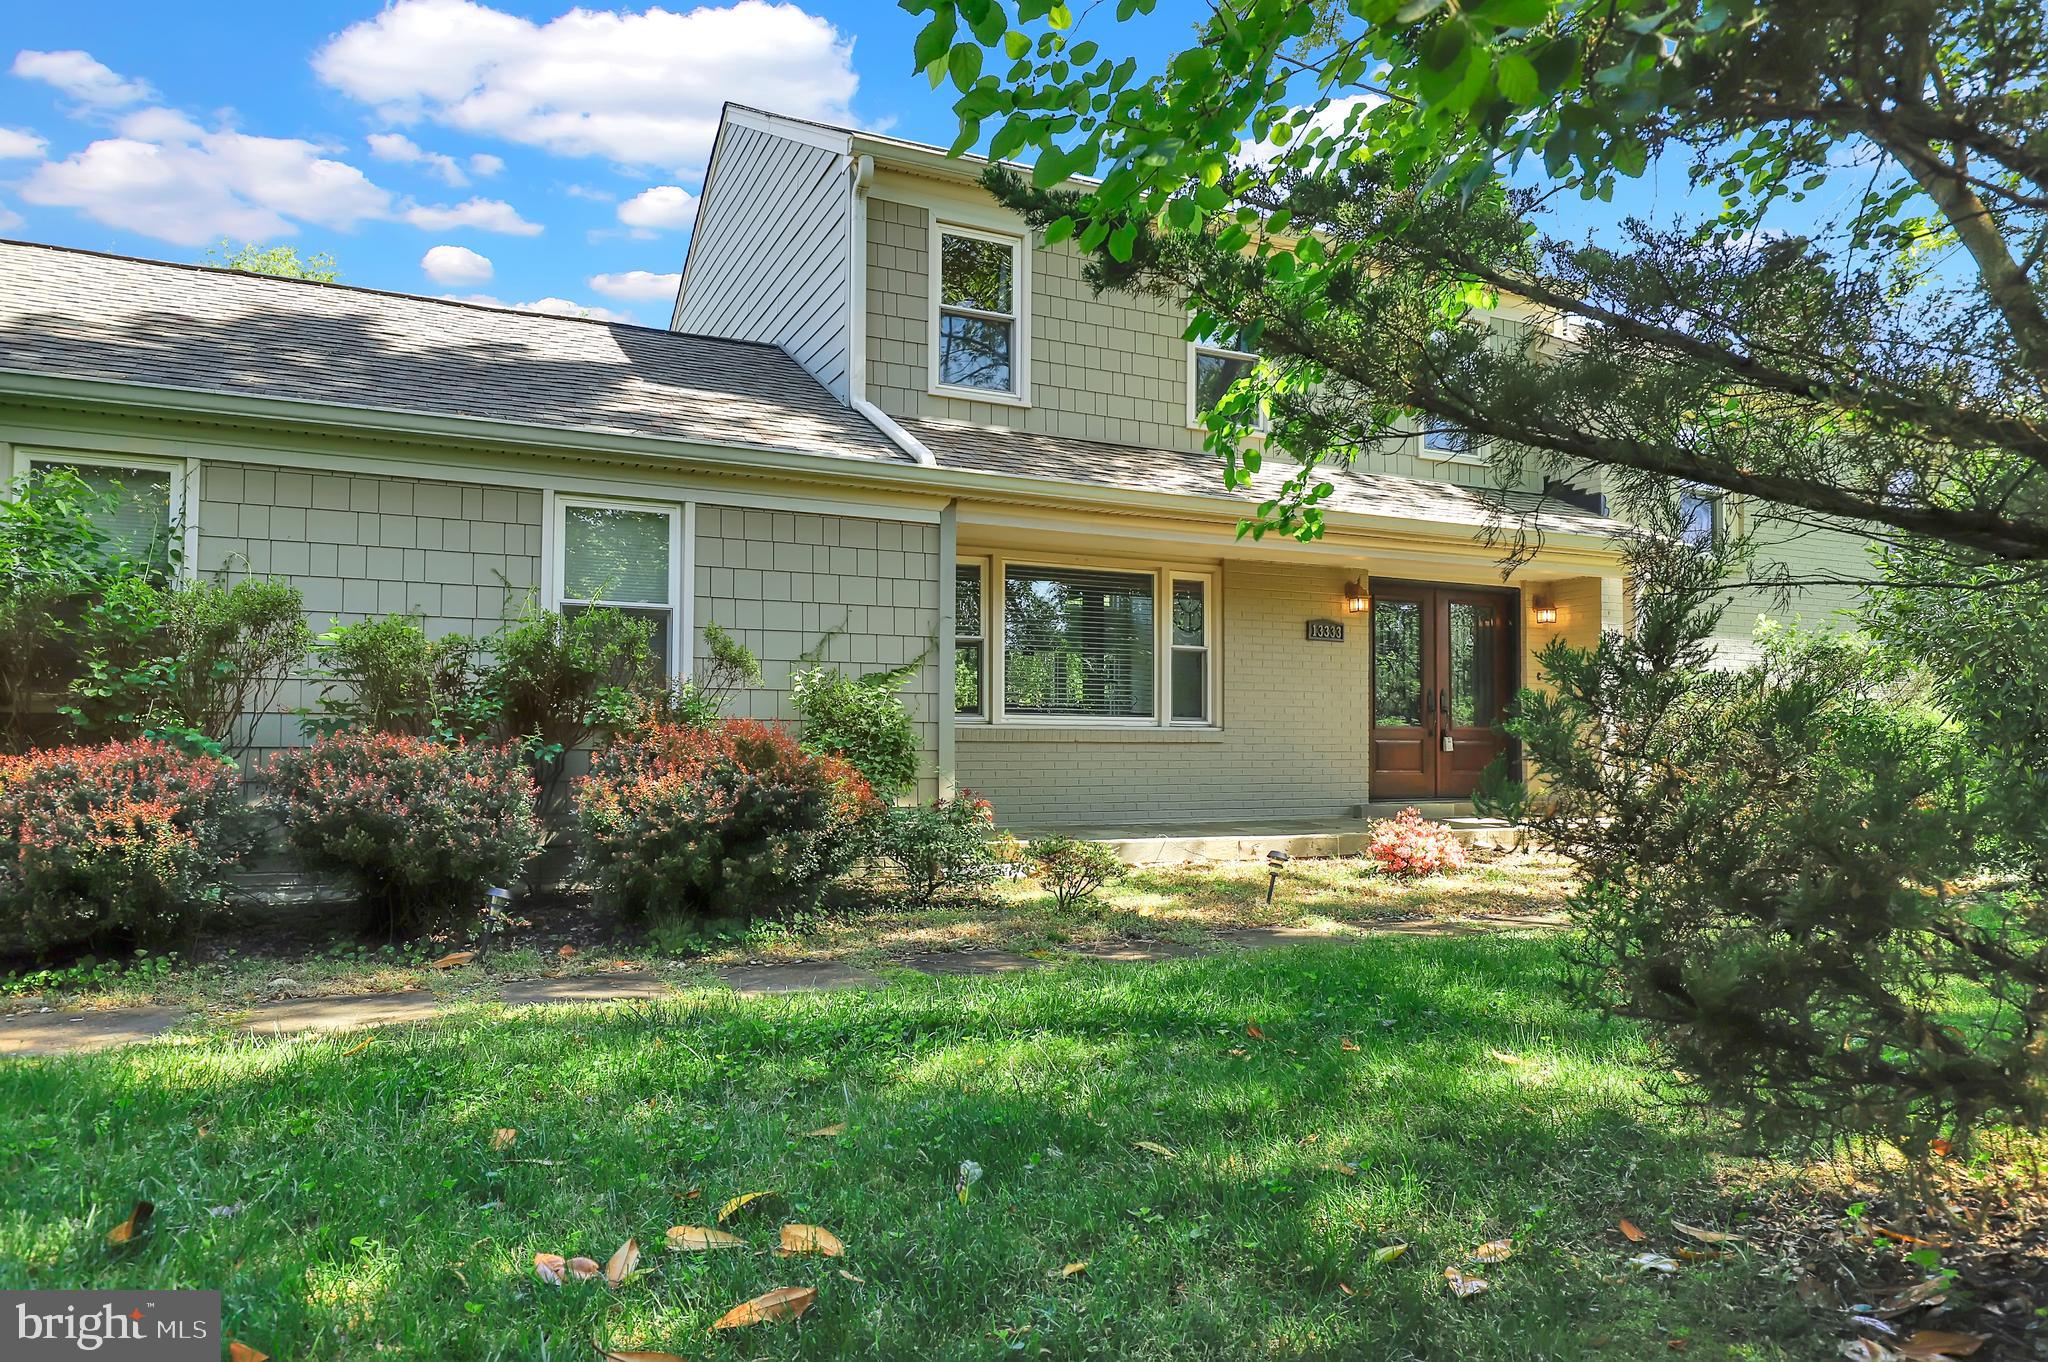
[{"label": "narrow shingled porch roof below the upper-story windows", "polygon": [[[1128,487],[1133,492],[1178,492],[1237,500],[1245,506],[1272,496],[1278,475],[1262,475],[1249,492],[1231,494],[1223,487],[1223,467],[1214,455],[1102,444],[995,430],[965,422],[905,420],[909,430],[942,469],[973,469],[1016,477],[1049,477],[1057,481]],[[1274,461],[1280,463],[1280,461]],[[1401,520],[1434,520],[1448,524],[1489,524],[1497,510],[1526,528],[1559,535],[1610,535],[1622,526],[1593,512],[1579,510],[1540,492],[1493,492],[1458,487],[1423,477],[1366,473],[1356,467],[1323,465],[1317,469],[1335,492],[1323,506],[1364,516],[1395,516]]]}]

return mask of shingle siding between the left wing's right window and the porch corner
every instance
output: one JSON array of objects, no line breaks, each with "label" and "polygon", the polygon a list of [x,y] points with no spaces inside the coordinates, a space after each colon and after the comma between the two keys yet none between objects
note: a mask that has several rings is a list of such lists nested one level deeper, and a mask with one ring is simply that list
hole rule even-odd
[{"label": "shingle siding between the left wing's right window and the porch corner", "polygon": [[725,627],[762,659],[762,686],[731,713],[793,721],[788,674],[834,629],[844,633],[823,659],[848,672],[922,655],[901,694],[924,748],[924,799],[938,791],[938,580],[936,524],[696,508],[698,625]]}]

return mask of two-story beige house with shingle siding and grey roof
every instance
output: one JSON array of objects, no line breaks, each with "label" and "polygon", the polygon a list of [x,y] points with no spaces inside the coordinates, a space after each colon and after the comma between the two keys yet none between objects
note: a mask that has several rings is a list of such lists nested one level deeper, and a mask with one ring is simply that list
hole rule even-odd
[{"label": "two-story beige house with shingle siding and grey roof", "polygon": [[[1329,469],[1321,541],[1239,541],[1198,408],[1249,356],[1094,297],[977,174],[727,107],[670,330],[0,244],[0,469],[117,481],[317,627],[487,633],[539,592],[645,614],[680,672],[719,623],[756,717],[819,641],[918,662],[924,793],[1014,825],[1468,797],[1532,653],[1626,621],[1597,502],[1411,436]],[[1505,580],[1497,504],[1538,539]]]}]

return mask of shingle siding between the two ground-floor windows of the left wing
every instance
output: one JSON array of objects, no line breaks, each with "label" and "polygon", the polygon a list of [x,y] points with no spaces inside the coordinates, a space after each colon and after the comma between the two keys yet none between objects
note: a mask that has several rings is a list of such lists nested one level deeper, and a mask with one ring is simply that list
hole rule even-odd
[{"label": "shingle siding between the two ground-floor windows of the left wing", "polygon": [[[416,477],[201,469],[199,569],[283,578],[315,629],[418,612],[428,633],[487,635],[539,582],[541,494]],[[291,711],[317,688],[287,682],[250,741],[299,741]]]}]

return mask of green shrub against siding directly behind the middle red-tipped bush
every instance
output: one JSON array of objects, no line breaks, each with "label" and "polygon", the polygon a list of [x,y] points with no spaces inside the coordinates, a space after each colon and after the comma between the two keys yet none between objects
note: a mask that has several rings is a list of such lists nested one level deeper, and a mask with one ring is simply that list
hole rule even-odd
[{"label": "green shrub against siding directly behind the middle red-tipped bush", "polygon": [[315,639],[319,700],[303,727],[315,735],[481,737],[496,711],[479,682],[477,651],[463,635],[428,639],[412,614],[330,629]]}]

